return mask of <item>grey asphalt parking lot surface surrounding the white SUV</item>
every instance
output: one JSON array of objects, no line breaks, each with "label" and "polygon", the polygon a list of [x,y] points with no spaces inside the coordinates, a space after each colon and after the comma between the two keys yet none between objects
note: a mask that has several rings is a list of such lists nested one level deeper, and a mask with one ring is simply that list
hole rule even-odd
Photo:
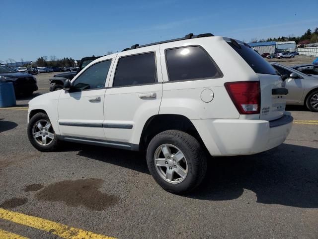
[{"label": "grey asphalt parking lot surface surrounding the white SUV", "polygon": [[[33,97],[52,75],[35,76]],[[30,99],[0,108],[0,238],[318,238],[317,113],[287,107],[295,122],[282,145],[211,158],[204,183],[177,196],[138,152],[72,143],[37,151],[26,134]]]}]

